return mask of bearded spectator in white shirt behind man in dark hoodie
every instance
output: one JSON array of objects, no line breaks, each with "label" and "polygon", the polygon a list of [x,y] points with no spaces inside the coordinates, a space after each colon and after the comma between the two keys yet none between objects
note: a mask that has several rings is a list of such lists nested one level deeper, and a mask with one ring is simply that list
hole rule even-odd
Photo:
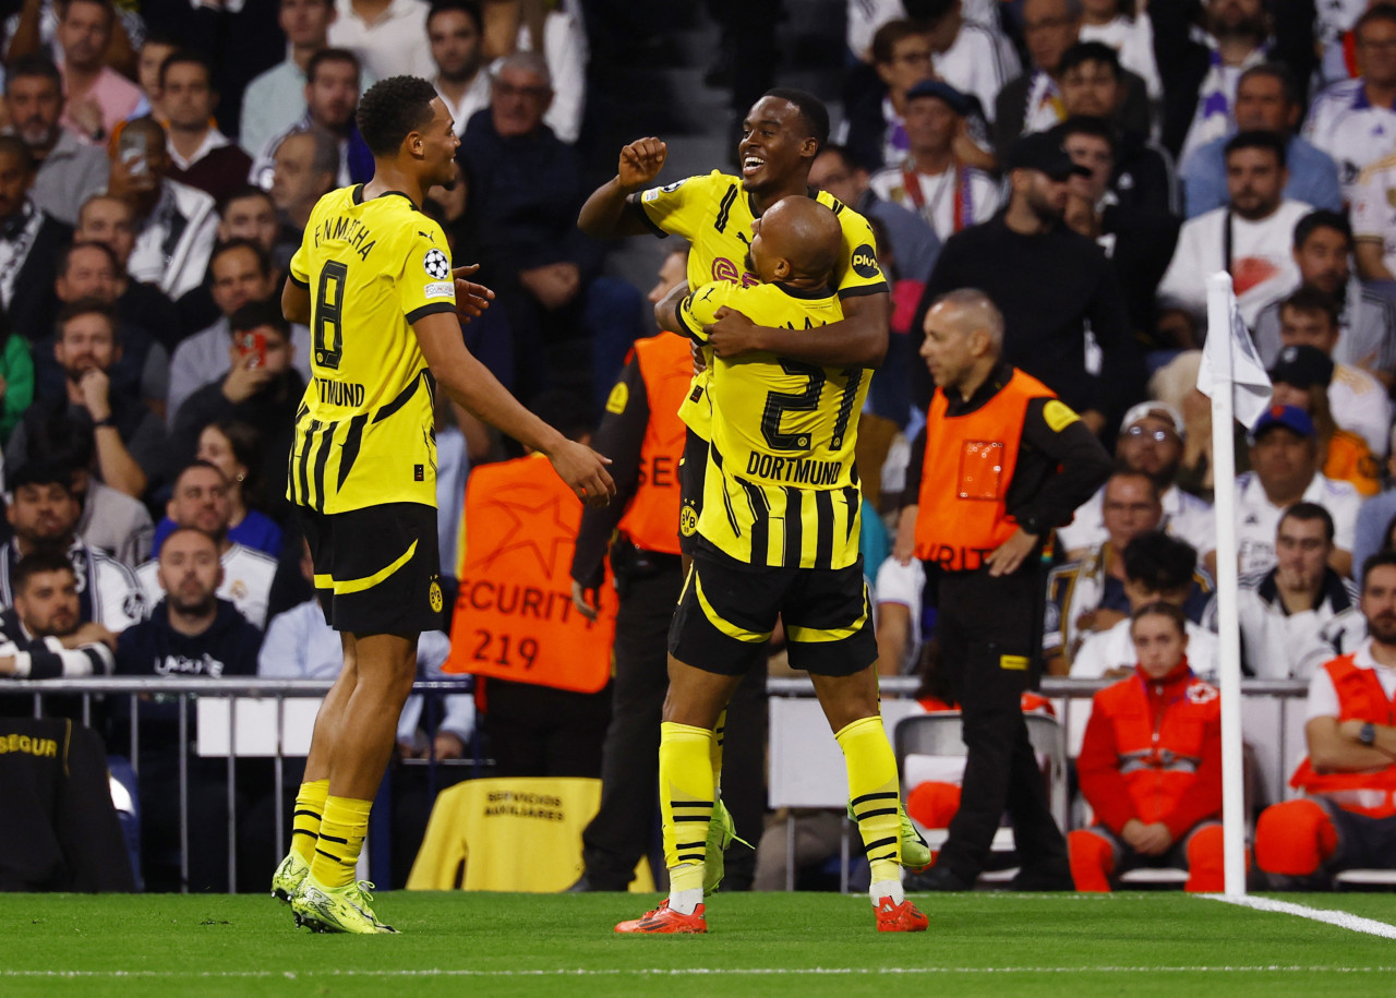
[{"label": "bearded spectator in white shirt behind man in dark hoodie", "polygon": [[[267,627],[267,607],[271,603],[271,583],[276,576],[276,560],[228,539],[232,507],[228,502],[228,479],[215,465],[195,461],[174,480],[174,491],[165,505],[166,515],[176,526],[207,533],[218,544],[223,578],[218,597],[237,607],[257,630]],[[151,606],[162,599],[161,564],[147,561],[135,569]]]}]

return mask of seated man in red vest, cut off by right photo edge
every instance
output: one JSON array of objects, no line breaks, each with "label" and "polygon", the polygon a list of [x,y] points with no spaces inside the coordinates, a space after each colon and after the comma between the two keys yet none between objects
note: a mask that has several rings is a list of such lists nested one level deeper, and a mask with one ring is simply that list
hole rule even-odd
[{"label": "seated man in red vest, cut off by right photo edge", "polygon": [[1255,864],[1282,891],[1330,886],[1342,870],[1396,870],[1396,554],[1362,565],[1367,641],[1309,680],[1298,800],[1265,808]]}]

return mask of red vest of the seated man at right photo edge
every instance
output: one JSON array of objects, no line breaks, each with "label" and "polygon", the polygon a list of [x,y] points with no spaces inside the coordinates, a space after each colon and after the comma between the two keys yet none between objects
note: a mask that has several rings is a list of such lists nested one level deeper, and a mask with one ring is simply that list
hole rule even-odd
[{"label": "red vest of the seated man at right photo edge", "polygon": [[[1337,690],[1337,719],[1396,724],[1396,699],[1388,698],[1382,681],[1371,669],[1357,666],[1357,655],[1342,655],[1326,663]],[[1396,815],[1396,762],[1362,773],[1319,773],[1308,757],[1294,770],[1290,786],[1307,794],[1322,794],[1344,811],[1372,818]]]}]

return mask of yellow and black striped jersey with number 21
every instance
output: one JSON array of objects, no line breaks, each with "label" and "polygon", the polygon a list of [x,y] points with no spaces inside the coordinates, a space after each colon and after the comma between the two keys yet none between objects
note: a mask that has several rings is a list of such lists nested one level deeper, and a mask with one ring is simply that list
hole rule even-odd
[{"label": "yellow and black striped jersey with number 21", "polygon": [[[678,308],[681,332],[705,342],[722,306],[754,322],[810,329],[843,318],[836,295],[780,283],[704,285]],[[846,568],[859,558],[861,490],[853,458],[871,371],[750,353],[716,357],[708,470],[698,533],[738,561]]]}]

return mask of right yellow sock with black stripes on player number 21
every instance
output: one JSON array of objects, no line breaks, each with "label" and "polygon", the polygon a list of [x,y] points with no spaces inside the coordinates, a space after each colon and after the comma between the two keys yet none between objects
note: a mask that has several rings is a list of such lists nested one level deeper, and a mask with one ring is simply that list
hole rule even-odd
[{"label": "right yellow sock with black stripes on player number 21", "polygon": [[867,851],[872,882],[900,882],[902,853],[900,793],[896,757],[882,730],[882,717],[860,717],[833,736],[843,750],[849,770],[849,797]]}]

